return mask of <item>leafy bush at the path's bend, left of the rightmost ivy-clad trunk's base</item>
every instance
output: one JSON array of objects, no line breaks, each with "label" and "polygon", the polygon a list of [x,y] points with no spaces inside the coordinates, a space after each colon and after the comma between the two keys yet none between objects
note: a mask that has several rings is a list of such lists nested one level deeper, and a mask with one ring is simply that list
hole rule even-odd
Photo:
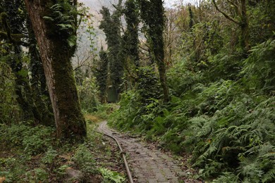
[{"label": "leafy bush at the path's bend, left of the rightmost ivy-clad trunk's base", "polygon": [[159,113],[157,110],[152,110],[159,106],[159,98],[160,86],[158,77],[152,69],[140,68],[140,79],[138,80],[136,91],[121,94],[119,103],[121,108],[111,114],[116,120],[111,120],[110,123],[114,127],[123,127],[124,130],[133,130],[134,126],[138,126],[140,130],[151,129],[151,120]]}]

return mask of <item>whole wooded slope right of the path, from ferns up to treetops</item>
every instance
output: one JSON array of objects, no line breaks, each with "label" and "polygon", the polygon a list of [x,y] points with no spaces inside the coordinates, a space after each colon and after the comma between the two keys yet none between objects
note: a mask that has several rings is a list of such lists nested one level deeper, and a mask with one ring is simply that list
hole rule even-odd
[{"label": "whole wooded slope right of the path, from ferns up to treetops", "polygon": [[[154,68],[140,68],[140,80],[121,95],[110,124],[144,134],[175,153],[191,153],[198,177],[274,182],[275,4],[239,2],[169,9],[171,101],[162,99]],[[248,23],[248,36],[242,21]]]}]

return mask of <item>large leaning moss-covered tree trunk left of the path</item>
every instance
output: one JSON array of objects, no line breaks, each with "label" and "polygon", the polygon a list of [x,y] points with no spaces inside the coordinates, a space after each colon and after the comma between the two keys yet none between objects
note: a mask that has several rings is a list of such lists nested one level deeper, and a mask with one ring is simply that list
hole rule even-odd
[{"label": "large leaning moss-covered tree trunk left of the path", "polygon": [[58,30],[57,23],[49,25],[44,18],[51,16],[51,7],[55,2],[25,0],[25,6],[42,58],[54,110],[57,137],[81,140],[86,135],[86,125],[81,113],[71,65],[75,47],[68,45],[69,36],[75,32],[67,35],[66,32]]}]

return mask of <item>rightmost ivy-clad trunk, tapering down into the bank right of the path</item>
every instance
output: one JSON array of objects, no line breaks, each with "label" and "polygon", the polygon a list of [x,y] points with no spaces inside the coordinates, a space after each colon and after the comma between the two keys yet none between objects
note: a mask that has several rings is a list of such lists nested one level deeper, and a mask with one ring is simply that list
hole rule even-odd
[{"label": "rightmost ivy-clad trunk, tapering down into the bank right of the path", "polygon": [[166,83],[164,63],[164,6],[162,0],[139,0],[140,16],[147,26],[148,42],[154,62],[159,69],[159,80],[163,89],[164,101],[169,101],[169,89]]}]

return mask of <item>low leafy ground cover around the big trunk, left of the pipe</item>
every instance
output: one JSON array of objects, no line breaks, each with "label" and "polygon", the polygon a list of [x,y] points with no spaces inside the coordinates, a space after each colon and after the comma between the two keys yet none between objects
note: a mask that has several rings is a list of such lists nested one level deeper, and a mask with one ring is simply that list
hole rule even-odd
[{"label": "low leafy ground cover around the big trunk, left of the pipe", "polygon": [[53,127],[26,124],[0,126],[1,181],[103,182],[104,179],[111,179],[110,182],[114,182],[114,179],[124,182],[125,176],[121,172],[110,169],[118,166],[115,162],[123,165],[119,154],[109,154],[114,160],[110,160],[108,155],[102,157],[106,151],[111,152],[108,150],[110,144],[94,132],[94,122],[88,121],[89,133],[84,144],[59,141],[55,138]]}]

